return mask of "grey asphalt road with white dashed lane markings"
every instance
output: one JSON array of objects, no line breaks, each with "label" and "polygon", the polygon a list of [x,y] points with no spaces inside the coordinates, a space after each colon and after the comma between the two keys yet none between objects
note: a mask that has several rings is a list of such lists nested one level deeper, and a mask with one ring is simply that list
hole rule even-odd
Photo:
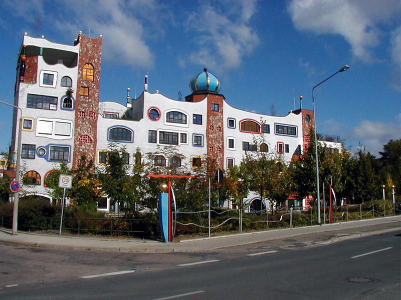
[{"label": "grey asphalt road with white dashed lane markings", "polygon": [[[7,278],[7,284],[0,283],[0,299],[399,299],[399,230],[320,246],[306,240],[292,245],[262,242],[159,254],[1,245],[0,270],[12,274],[0,277]],[[24,278],[19,269],[24,264],[13,259],[30,256],[29,278]],[[32,278],[35,267],[41,280]]]}]

